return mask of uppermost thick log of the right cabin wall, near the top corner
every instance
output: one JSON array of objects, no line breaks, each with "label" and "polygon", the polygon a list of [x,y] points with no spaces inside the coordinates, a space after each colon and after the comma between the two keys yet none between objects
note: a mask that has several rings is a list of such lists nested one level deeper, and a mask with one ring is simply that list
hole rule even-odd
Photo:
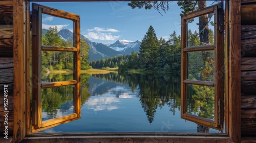
[{"label": "uppermost thick log of the right cabin wall, near the top corner", "polygon": [[242,25],[255,25],[256,23],[256,4],[251,3],[241,6],[241,22]]}]

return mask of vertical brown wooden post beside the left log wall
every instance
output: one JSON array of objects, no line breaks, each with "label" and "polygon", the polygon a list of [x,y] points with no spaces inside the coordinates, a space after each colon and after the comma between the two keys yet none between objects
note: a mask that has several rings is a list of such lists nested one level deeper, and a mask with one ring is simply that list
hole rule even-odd
[{"label": "vertical brown wooden post beside the left log wall", "polygon": [[26,0],[13,0],[14,123],[13,141],[26,136]]}]

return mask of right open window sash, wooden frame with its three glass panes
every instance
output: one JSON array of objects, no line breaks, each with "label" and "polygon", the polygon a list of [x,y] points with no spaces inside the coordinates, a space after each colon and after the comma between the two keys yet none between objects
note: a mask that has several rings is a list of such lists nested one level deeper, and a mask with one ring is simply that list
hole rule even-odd
[{"label": "right open window sash, wooden frame with its three glass panes", "polygon": [[[224,121],[224,14],[223,4],[181,18],[181,117],[223,131]],[[207,19],[198,33],[191,21]],[[198,26],[202,23],[197,23]],[[205,32],[210,29],[212,32]],[[192,33],[192,34],[191,34]],[[204,41],[204,34],[212,40]],[[198,40],[199,44],[195,44]]]}]

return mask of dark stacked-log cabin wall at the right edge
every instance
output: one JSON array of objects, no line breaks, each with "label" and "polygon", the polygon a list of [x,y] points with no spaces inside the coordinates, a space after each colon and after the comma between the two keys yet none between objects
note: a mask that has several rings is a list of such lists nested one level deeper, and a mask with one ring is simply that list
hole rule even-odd
[{"label": "dark stacked-log cabin wall at the right edge", "polygon": [[256,1],[241,3],[241,134],[256,135]]}]

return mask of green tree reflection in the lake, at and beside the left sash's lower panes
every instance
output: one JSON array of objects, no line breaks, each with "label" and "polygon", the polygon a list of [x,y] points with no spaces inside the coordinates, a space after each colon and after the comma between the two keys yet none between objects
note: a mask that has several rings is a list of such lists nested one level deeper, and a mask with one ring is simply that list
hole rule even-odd
[{"label": "green tree reflection in the lake, at and beside the left sash's lower panes", "polygon": [[[88,78],[90,75],[81,75],[81,105],[83,105],[88,98],[90,93],[88,92],[89,84]],[[42,81],[53,82],[53,81],[66,81],[72,80],[73,74],[49,74],[42,76]],[[54,88],[42,89],[42,111],[47,113],[48,118],[55,118],[58,109],[60,112],[67,112],[73,105],[73,85],[59,86]]]}]

